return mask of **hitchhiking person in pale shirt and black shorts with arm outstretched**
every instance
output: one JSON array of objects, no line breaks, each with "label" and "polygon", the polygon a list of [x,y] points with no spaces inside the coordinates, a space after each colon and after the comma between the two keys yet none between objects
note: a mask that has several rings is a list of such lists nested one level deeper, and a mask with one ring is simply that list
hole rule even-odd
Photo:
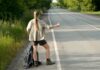
[{"label": "hitchhiking person in pale shirt and black shorts with arm outstretched", "polygon": [[45,40],[45,29],[52,29],[54,27],[58,27],[59,24],[49,26],[46,23],[44,23],[42,20],[38,19],[39,12],[34,11],[33,13],[33,19],[29,21],[27,25],[27,32],[29,33],[29,41],[33,42],[33,59],[34,59],[34,65],[37,67],[38,60],[37,60],[37,46],[38,44],[43,46],[46,50],[46,64],[52,65],[54,62],[50,59],[50,48]]}]

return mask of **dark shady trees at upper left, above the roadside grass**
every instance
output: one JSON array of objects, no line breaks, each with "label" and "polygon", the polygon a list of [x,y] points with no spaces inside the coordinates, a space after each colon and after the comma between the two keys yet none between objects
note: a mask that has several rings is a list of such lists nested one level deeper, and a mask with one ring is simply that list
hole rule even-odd
[{"label": "dark shady trees at upper left, above the roadside grass", "polygon": [[0,0],[0,19],[20,18],[28,10],[46,10],[51,0]]}]

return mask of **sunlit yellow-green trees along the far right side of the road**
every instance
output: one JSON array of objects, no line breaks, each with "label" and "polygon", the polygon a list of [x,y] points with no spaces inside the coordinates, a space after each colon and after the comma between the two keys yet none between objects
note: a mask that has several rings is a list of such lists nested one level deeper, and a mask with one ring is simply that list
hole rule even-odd
[{"label": "sunlit yellow-green trees along the far right side of the road", "polygon": [[74,11],[99,11],[100,0],[59,0],[60,6]]}]

